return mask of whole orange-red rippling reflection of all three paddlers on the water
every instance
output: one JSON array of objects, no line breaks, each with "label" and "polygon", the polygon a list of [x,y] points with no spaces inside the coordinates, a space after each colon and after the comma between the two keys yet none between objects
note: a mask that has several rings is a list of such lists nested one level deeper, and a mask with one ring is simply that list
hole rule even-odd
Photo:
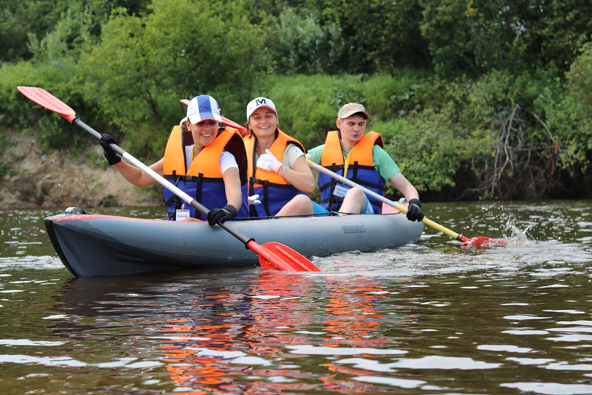
[{"label": "whole orange-red rippling reflection of all three paddlers on the water", "polygon": [[[162,345],[162,360],[178,389],[187,388],[175,393],[382,392],[372,384],[337,380],[335,375],[374,375],[373,371],[324,363],[323,355],[295,354],[286,346],[318,342],[324,347],[388,348],[392,341],[381,337],[385,316],[378,307],[384,284],[365,277],[316,282],[302,274],[263,271],[259,281],[248,284],[252,288],[244,293],[219,288],[195,300],[191,307],[199,309],[200,317],[207,310],[208,319],[168,320],[165,331],[173,339]],[[326,288],[321,297],[319,284]],[[314,339],[310,334],[318,332],[326,335]],[[377,358],[363,352],[348,357]],[[301,371],[298,361],[319,371]],[[276,379],[270,382],[269,377]]]}]

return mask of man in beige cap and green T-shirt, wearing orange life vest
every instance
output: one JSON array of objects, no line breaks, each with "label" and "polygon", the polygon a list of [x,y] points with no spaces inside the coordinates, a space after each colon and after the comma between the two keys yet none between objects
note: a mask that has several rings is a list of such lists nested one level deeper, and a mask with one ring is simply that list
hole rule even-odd
[{"label": "man in beige cap and green T-shirt, wearing orange life vest", "polygon": [[[421,221],[419,194],[383,149],[381,134],[375,131],[364,134],[369,118],[362,104],[343,105],[337,113],[339,131],[327,132],[325,143],[308,150],[307,158],[379,195],[384,195],[388,180],[409,203],[407,219]],[[318,175],[318,188],[321,204],[313,202],[315,213],[382,213],[380,201],[366,197],[360,188],[350,188],[324,173]]]}]

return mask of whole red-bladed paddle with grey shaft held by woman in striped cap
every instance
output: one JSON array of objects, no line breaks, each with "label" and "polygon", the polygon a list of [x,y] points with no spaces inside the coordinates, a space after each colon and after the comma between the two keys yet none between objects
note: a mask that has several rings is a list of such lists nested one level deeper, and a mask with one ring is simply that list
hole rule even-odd
[{"label": "whole red-bladed paddle with grey shaft held by woman in striped cap", "polygon": [[[101,139],[101,134],[98,133],[98,131],[83,123],[79,117],[76,117],[76,113],[74,110],[72,110],[72,108],[60,101],[60,99],[56,98],[54,95],[47,92],[45,89],[36,88],[34,86],[17,86],[17,89],[21,91],[21,93],[27,98],[47,108],[47,110],[51,110],[54,113],[62,115],[62,117],[66,118],[68,121],[70,121],[70,123],[73,123],[85,130],[96,139]],[[200,211],[200,213],[204,215],[208,213],[208,209],[200,204],[197,200],[179,188],[175,187],[175,185],[166,181],[163,176],[157,174],[155,171],[131,156],[119,146],[116,144],[110,144],[110,147],[112,150],[121,155],[122,158],[126,159],[127,162],[130,162],[132,165],[151,176],[153,179],[155,179],[155,181],[163,185],[163,187],[168,188],[175,195],[191,204],[192,207],[195,207],[198,211]],[[284,271],[320,271],[320,269],[317,268],[313,262],[309,261],[303,255],[294,251],[288,246],[275,242],[265,243],[261,246],[255,243],[254,239],[250,239],[249,237],[243,235],[243,233],[240,233],[238,230],[234,229],[227,222],[218,224],[218,226],[239,239],[247,248],[257,253],[259,255],[259,263],[263,269]]]}]

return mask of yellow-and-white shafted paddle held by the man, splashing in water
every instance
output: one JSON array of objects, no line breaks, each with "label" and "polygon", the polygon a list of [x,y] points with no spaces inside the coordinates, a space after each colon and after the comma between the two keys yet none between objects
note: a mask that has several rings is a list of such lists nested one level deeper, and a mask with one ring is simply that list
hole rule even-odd
[{"label": "yellow-and-white shafted paddle held by the man, splashing in water", "polygon": [[[392,207],[396,208],[397,210],[402,211],[403,213],[407,214],[406,207],[403,207],[402,205],[397,204],[392,200],[388,200],[384,196],[379,195],[376,192],[369,190],[368,188],[362,187],[362,185],[356,184],[355,182],[351,181],[350,179],[340,176],[339,174],[332,172],[329,169],[324,168],[323,166],[317,165],[317,163],[314,163],[312,160],[307,159],[306,161],[308,163],[308,166],[310,166],[311,168],[317,169],[318,171],[323,172],[324,174],[330,175],[333,178],[337,179],[337,181],[341,181],[341,182],[343,182],[343,184],[347,184],[350,187],[361,188],[361,190],[364,191],[366,195],[370,195],[373,198],[375,198],[376,200],[381,201],[382,203],[386,203],[388,205],[391,205]],[[428,226],[433,227],[434,229],[439,230],[442,233],[445,233],[448,236],[453,237],[454,239],[463,243],[463,245],[476,246],[476,247],[493,247],[493,246],[504,246],[507,244],[506,240],[491,239],[491,237],[484,237],[484,236],[472,237],[471,239],[469,239],[468,237],[459,235],[456,232],[452,232],[452,230],[447,229],[447,228],[443,227],[442,225],[435,223],[434,221],[428,219],[427,217],[423,217],[422,222]]]}]

